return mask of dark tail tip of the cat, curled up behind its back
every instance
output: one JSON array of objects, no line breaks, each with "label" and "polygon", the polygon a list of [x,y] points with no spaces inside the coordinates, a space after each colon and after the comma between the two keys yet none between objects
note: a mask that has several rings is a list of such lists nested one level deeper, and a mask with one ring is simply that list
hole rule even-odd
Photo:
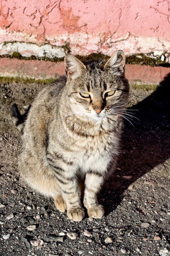
[{"label": "dark tail tip of the cat, curled up behind its back", "polygon": [[14,103],[11,106],[11,117],[12,117],[13,124],[15,124],[16,128],[22,133],[24,129],[24,121],[26,120],[30,107],[31,105],[25,111],[24,115],[21,115],[20,111],[18,110],[17,104]]}]

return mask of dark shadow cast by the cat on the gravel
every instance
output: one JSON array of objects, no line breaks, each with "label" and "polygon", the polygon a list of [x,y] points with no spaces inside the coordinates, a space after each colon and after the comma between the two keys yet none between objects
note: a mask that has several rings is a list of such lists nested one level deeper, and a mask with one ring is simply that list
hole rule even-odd
[{"label": "dark shadow cast by the cat on the gravel", "polygon": [[[125,120],[118,168],[99,194],[106,215],[117,208],[135,180],[170,157],[170,74],[155,92],[129,109],[137,110],[137,119],[133,118],[134,127]],[[157,180],[153,176],[148,182]]]}]

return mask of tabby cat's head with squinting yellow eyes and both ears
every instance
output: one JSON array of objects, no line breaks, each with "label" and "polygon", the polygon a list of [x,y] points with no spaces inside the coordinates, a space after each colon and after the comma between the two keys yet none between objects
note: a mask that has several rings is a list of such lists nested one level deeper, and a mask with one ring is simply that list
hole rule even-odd
[{"label": "tabby cat's head with squinting yellow eyes and both ears", "polygon": [[124,77],[125,54],[117,51],[104,60],[82,63],[72,54],[64,58],[67,93],[71,110],[81,117],[102,119],[119,115],[128,98],[128,81]]}]

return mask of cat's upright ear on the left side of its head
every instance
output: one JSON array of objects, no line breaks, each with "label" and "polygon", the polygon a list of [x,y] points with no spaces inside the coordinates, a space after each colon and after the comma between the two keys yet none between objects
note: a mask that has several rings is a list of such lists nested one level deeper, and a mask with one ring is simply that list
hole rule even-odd
[{"label": "cat's upright ear on the left side of its head", "polygon": [[82,73],[82,70],[86,69],[86,66],[72,54],[67,54],[64,57],[64,64],[69,79],[77,78]]}]

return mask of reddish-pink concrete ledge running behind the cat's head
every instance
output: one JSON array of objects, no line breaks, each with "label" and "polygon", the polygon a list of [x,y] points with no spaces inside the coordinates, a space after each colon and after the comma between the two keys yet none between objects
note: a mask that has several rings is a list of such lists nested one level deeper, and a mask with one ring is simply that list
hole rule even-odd
[{"label": "reddish-pink concrete ledge running behind the cat's head", "polygon": [[[59,74],[65,74],[64,62],[0,58],[1,77],[45,80],[55,79]],[[126,65],[126,78],[131,84],[159,84],[168,75],[170,75],[170,67]]]}]

